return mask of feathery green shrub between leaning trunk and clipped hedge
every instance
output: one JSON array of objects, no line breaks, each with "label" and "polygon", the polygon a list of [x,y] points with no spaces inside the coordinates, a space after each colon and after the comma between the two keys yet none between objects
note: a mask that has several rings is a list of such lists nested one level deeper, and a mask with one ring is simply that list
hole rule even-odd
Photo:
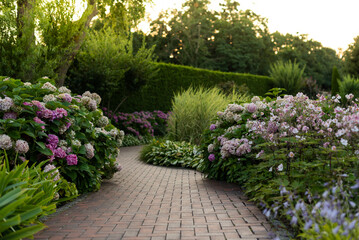
[{"label": "feathery green shrub between leaning trunk and clipped hedge", "polygon": [[144,42],[134,52],[131,36],[104,28],[90,32],[68,80],[74,91],[96,91],[116,109],[153,79],[157,73],[153,60],[153,48],[147,49]]}]

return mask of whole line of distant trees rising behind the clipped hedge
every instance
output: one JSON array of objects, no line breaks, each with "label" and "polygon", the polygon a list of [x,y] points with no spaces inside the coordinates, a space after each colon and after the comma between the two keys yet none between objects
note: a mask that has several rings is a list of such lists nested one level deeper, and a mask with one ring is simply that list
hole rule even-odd
[{"label": "whole line of distant trees rising behind the clipped hedge", "polygon": [[270,33],[267,19],[241,10],[235,0],[224,0],[220,11],[209,10],[209,0],[188,0],[182,9],[162,12],[146,36],[162,62],[206,69],[268,75],[276,61],[296,61],[304,76],[322,87],[331,83],[335,50],[305,34]]}]

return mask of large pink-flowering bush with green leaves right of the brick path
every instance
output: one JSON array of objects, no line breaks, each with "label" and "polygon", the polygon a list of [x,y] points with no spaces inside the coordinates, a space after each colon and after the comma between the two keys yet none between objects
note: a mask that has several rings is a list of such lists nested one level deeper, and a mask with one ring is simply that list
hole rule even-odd
[{"label": "large pink-flowering bush with green leaves right of the brick path", "polygon": [[359,101],[352,94],[341,101],[298,93],[230,104],[205,134],[201,169],[267,206],[287,201],[280,188],[298,198],[323,194],[332,180],[349,188],[359,175]]}]

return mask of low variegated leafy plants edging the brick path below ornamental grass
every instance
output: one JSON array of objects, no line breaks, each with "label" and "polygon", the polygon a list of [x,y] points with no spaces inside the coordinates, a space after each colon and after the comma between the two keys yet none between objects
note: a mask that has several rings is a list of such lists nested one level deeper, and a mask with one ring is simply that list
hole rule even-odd
[{"label": "low variegated leafy plants edging the brick path below ornamental grass", "polygon": [[197,168],[203,156],[202,151],[190,143],[154,139],[141,150],[140,159],[159,166]]}]

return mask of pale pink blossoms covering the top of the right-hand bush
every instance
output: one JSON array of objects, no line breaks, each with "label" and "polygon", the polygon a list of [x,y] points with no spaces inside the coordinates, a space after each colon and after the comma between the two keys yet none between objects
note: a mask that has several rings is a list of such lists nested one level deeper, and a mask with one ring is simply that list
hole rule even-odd
[{"label": "pale pink blossoms covering the top of the right-hand bush", "polygon": [[[359,101],[348,95],[349,106],[342,107],[339,105],[340,96],[317,97],[311,100],[303,93],[298,93],[296,96],[278,97],[272,102],[256,98],[243,105],[230,104],[224,112],[218,113],[216,124],[210,127],[211,130],[224,129],[224,134],[214,138],[211,144],[219,146],[223,159],[251,153],[252,141],[257,138],[276,146],[285,137],[305,144],[310,136],[317,139],[322,147],[333,151],[337,147],[358,148]],[[233,129],[239,123],[245,125],[246,132],[233,137]],[[293,151],[296,148],[295,144],[291,147]],[[297,156],[293,151],[290,157]]]}]

